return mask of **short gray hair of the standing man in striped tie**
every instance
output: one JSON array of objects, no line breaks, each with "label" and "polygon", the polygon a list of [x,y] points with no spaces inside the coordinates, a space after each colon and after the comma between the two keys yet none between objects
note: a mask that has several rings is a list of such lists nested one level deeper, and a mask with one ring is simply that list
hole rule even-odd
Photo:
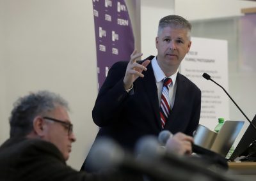
[{"label": "short gray hair of the standing man in striped tie", "polygon": [[164,27],[173,27],[178,29],[187,29],[188,30],[188,38],[190,40],[190,33],[192,29],[192,25],[183,17],[178,15],[168,15],[166,17],[161,18],[158,24],[157,36],[162,33]]}]

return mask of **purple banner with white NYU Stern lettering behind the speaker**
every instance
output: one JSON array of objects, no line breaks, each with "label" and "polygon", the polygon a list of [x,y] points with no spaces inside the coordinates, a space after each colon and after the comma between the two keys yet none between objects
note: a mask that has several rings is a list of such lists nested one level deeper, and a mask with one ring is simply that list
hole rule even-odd
[{"label": "purple banner with white NYU Stern lettering behind the speaker", "polygon": [[134,50],[131,20],[124,0],[93,0],[99,88],[117,61],[129,61]]}]

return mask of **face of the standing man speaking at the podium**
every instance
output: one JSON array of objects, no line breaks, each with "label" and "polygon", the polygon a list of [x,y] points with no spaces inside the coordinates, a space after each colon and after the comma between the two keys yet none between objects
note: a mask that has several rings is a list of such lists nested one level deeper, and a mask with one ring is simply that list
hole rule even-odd
[{"label": "face of the standing man speaking at the podium", "polygon": [[189,52],[191,41],[188,30],[164,27],[156,38],[157,62],[162,69],[179,68],[180,62]]}]

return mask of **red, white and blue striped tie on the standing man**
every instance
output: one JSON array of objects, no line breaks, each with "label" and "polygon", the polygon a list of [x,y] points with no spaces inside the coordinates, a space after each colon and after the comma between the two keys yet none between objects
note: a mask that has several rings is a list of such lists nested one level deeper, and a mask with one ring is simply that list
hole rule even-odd
[{"label": "red, white and blue striped tie on the standing man", "polygon": [[172,83],[172,78],[164,78],[163,79],[163,91],[161,95],[161,103],[160,103],[160,117],[161,117],[161,126],[162,129],[171,112],[171,106],[169,101],[169,86]]}]

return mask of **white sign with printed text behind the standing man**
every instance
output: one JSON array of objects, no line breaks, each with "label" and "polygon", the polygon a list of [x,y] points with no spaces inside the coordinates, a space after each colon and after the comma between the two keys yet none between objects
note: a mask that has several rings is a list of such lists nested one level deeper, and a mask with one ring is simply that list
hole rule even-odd
[{"label": "white sign with printed text behind the standing man", "polygon": [[189,53],[183,59],[180,73],[194,82],[202,91],[200,124],[214,130],[218,118],[229,119],[228,96],[223,89],[206,80],[207,73],[212,80],[228,91],[227,41],[206,38],[191,38]]}]

